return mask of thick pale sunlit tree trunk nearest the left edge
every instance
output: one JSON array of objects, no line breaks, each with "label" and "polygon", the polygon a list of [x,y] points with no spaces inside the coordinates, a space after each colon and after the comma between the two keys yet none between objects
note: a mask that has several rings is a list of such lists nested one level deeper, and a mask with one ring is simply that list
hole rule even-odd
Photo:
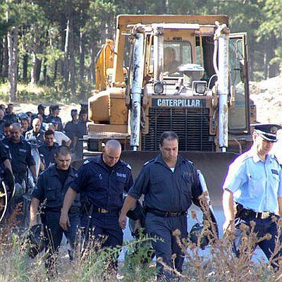
[{"label": "thick pale sunlit tree trunk nearest the left edge", "polygon": [[8,32],[8,87],[9,102],[16,101],[18,83],[18,26]]}]

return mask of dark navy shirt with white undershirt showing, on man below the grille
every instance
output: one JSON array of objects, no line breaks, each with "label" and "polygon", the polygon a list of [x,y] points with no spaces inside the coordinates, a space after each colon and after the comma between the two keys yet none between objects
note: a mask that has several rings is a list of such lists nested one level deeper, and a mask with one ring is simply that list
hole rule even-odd
[{"label": "dark navy shirt with white undershirt showing, on man below the grille", "polygon": [[161,154],[147,162],[128,195],[139,199],[145,195],[145,205],[163,212],[185,212],[192,201],[197,202],[202,188],[191,161],[178,155],[171,171]]}]

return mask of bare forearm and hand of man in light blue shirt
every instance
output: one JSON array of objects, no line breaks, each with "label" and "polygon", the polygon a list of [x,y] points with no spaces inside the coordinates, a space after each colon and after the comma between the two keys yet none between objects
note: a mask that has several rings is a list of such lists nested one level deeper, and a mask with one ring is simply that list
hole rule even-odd
[{"label": "bare forearm and hand of man in light blue shirt", "polygon": [[224,216],[226,219],[225,223],[223,224],[223,233],[226,233],[227,231],[233,233],[235,229],[233,192],[231,192],[230,190],[223,191],[222,204],[223,204]]}]

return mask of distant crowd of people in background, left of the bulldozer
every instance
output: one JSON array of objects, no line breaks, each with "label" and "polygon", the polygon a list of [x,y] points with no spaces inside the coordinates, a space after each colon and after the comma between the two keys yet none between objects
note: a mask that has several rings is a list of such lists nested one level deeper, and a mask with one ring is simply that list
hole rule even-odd
[{"label": "distant crowd of people in background, left of the bulldozer", "polygon": [[[15,114],[13,104],[0,105],[0,139],[5,140],[11,137],[11,125],[18,123],[20,126],[20,135],[27,142],[36,144],[39,152],[42,152],[42,161],[49,165],[45,159],[45,149],[51,151],[56,145],[67,145],[70,147],[73,159],[82,159],[82,137],[86,134],[86,123],[88,121],[87,111],[81,109],[71,110],[71,121],[65,126],[59,116],[59,105],[49,106],[49,114],[45,113],[46,106],[39,104],[37,113],[27,111],[26,113]],[[47,132],[47,135],[46,135]],[[54,137],[50,137],[54,135]],[[51,142],[51,139],[53,142]]]}]

